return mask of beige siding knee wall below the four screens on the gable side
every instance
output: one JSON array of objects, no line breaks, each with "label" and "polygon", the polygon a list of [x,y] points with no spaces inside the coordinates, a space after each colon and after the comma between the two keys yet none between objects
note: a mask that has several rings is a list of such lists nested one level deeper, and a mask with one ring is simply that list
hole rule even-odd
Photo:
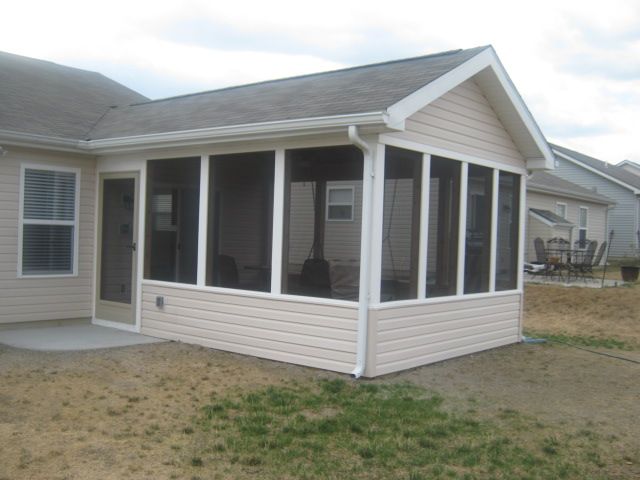
[{"label": "beige siding knee wall below the four screens on the gable side", "polygon": [[370,310],[369,376],[384,375],[519,341],[522,295]]}]

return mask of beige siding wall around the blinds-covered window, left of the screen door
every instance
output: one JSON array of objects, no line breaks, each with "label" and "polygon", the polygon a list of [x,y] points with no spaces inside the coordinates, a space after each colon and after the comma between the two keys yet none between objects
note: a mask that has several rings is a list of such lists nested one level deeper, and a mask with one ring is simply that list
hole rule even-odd
[{"label": "beige siding wall around the blinds-covered window, left of the screen door", "polygon": [[[88,318],[93,289],[95,159],[16,147],[0,158],[0,324]],[[78,276],[18,278],[22,163],[80,168]]]}]

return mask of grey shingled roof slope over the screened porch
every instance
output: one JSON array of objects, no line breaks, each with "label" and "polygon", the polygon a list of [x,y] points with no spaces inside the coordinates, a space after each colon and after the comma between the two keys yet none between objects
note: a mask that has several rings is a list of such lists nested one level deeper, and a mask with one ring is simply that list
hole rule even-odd
[{"label": "grey shingled roof slope over the screened porch", "polygon": [[453,50],[113,108],[89,137],[96,140],[381,112],[488,48]]}]

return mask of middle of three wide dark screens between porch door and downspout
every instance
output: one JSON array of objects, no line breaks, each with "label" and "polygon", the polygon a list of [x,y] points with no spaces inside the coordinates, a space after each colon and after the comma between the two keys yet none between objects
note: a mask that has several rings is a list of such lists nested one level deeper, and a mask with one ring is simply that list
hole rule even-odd
[{"label": "middle of three wide dark screens between porch door and downspout", "polygon": [[211,157],[207,285],[271,290],[274,165],[273,152]]}]

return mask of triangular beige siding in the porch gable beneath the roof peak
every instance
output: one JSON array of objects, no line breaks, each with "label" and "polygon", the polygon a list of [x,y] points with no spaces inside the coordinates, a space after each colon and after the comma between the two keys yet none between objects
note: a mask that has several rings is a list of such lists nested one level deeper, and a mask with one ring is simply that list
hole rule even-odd
[{"label": "triangular beige siding in the porch gable beneath the roof peak", "polygon": [[467,80],[409,117],[391,137],[524,167],[513,143],[482,90]]}]

